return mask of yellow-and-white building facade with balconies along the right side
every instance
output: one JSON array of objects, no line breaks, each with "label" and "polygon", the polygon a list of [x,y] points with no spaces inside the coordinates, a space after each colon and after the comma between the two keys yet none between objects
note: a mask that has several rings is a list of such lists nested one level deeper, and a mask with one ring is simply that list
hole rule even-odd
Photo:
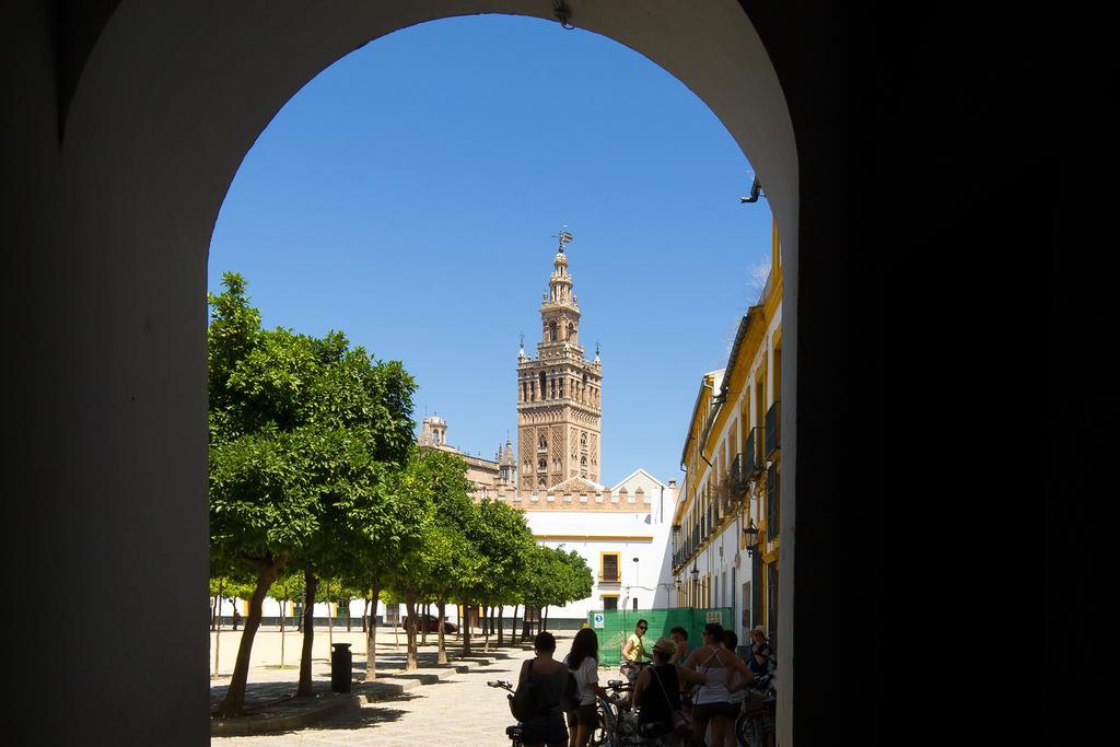
[{"label": "yellow-and-white building facade with balconies along the right side", "polygon": [[727,365],[701,377],[684,433],[672,572],[682,607],[730,607],[740,644],[777,628],[782,485],[782,252],[740,319]]}]

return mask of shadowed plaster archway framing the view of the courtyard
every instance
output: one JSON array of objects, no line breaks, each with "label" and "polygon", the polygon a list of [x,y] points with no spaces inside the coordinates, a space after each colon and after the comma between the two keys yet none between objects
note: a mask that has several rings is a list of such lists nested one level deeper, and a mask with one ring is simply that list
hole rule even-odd
[{"label": "shadowed plaster archway framing the view of the courtyard", "polygon": [[[161,610],[158,626],[96,619],[83,634],[91,673],[84,723],[121,741],[205,736],[206,246],[225,192],[256,136],[307,81],[353,49],[408,26],[479,12],[551,19],[550,2],[364,0],[320,3],[111,6],[87,56],[68,59],[72,95],[57,92],[60,148],[45,228],[67,251],[58,292],[88,315],[66,333],[74,366],[75,464],[60,494],[90,494],[57,530],[85,540],[84,573],[113,578]],[[724,122],[755,166],[783,227],[786,287],[797,288],[800,167],[778,76],[739,3],[615,0],[575,4],[571,21],[645,55]],[[78,45],[80,46],[80,45]],[[84,251],[77,251],[78,249]],[[794,521],[796,292],[785,300],[783,512]],[[82,379],[78,381],[78,379]],[[82,392],[78,394],[78,392]],[[84,488],[84,489],[83,489]],[[785,504],[788,503],[788,508]],[[64,512],[65,513],[65,512]],[[83,545],[85,547],[85,545]],[[792,663],[792,532],[783,543],[782,638]],[[143,562],[160,559],[159,562]],[[63,577],[62,569],[56,575]],[[785,586],[791,585],[788,590]],[[74,604],[97,601],[80,591]],[[202,599],[204,601],[204,599]],[[143,652],[131,655],[129,652]],[[792,667],[782,681],[783,731],[793,719]],[[83,674],[84,675],[84,674]],[[96,687],[92,684],[96,682]],[[128,718],[120,718],[122,704]],[[59,726],[59,728],[63,728]]]}]

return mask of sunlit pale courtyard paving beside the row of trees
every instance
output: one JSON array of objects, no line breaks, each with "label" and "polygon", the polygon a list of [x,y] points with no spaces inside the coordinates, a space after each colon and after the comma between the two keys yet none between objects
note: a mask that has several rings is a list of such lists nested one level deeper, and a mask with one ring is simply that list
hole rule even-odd
[{"label": "sunlit pale courtyard paving beside the row of trees", "polygon": [[[571,633],[561,634],[562,637],[559,637],[557,646],[558,655],[568,653],[571,635]],[[479,645],[476,651],[480,648]],[[392,646],[388,650],[391,651]],[[486,681],[515,680],[521,662],[530,657],[532,652],[510,648],[504,651],[512,657],[498,659],[492,664],[473,667],[467,673],[452,673],[445,681],[414,688],[390,700],[366,703],[360,709],[346,710],[298,731],[253,737],[214,737],[211,743],[222,747],[265,744],[385,745],[386,747],[393,745],[414,747],[424,744],[508,745],[505,727],[513,723],[514,719],[510,716],[505,692],[486,687]],[[361,654],[361,657],[364,661],[364,654]],[[355,660],[357,659],[358,656],[355,656]],[[390,655],[386,659],[392,660],[395,656]],[[329,676],[326,662],[316,666],[316,679]],[[254,678],[253,673],[261,675],[260,679]],[[251,682],[279,679],[280,674],[276,670],[261,671],[256,667],[253,673],[250,675]],[[286,679],[293,680],[295,676],[295,673],[288,673]],[[227,680],[221,682],[215,680],[212,687],[221,687],[227,682]]]}]

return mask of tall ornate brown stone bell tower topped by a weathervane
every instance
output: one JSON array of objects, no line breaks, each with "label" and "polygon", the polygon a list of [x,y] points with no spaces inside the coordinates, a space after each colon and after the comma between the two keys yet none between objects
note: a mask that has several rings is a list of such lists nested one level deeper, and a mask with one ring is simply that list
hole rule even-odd
[{"label": "tall ornate brown stone bell tower topped by a weathervane", "polygon": [[517,354],[517,488],[547,491],[571,477],[599,482],[603,364],[584,357],[580,311],[568,273],[567,231],[552,258],[549,292],[541,301],[536,357]]}]

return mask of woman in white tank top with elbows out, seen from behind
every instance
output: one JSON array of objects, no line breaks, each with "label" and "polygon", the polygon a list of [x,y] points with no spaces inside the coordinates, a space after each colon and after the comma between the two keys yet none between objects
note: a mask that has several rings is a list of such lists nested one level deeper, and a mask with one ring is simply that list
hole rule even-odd
[{"label": "woman in white tank top with elbows out, seen from behind", "polygon": [[[684,666],[704,674],[708,681],[700,685],[693,698],[692,727],[693,736],[703,739],[711,722],[711,744],[724,745],[728,730],[734,730],[735,713],[731,706],[731,692],[741,689],[754,680],[750,670],[743,660],[721,645],[724,626],[719,623],[708,623],[703,628],[703,644],[693,651]],[[736,676],[737,675],[737,676]],[[734,684],[728,681],[734,679]]]}]

